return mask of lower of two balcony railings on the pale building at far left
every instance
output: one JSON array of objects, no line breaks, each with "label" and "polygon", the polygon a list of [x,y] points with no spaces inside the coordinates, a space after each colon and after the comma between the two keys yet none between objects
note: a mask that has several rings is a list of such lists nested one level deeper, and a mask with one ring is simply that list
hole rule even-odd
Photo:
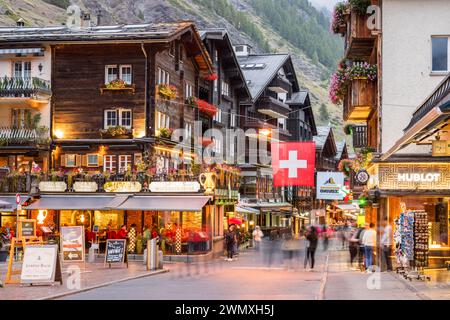
[{"label": "lower of two balcony railings on the pale building at far left", "polygon": [[0,147],[5,145],[45,144],[50,136],[48,130],[0,127]]}]

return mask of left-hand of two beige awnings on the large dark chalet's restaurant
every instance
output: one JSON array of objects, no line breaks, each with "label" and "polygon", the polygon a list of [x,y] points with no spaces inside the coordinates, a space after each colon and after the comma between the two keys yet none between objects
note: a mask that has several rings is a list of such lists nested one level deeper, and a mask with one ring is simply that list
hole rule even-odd
[{"label": "left-hand of two beige awnings on the large dark chalet's restaurant", "polygon": [[[42,196],[26,210],[109,210],[115,196]],[[115,209],[115,208],[114,208]]]}]

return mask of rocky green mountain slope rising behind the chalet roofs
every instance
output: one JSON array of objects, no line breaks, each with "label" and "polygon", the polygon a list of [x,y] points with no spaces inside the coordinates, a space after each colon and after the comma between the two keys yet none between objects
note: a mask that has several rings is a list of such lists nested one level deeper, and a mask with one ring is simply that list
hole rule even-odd
[{"label": "rocky green mountain slope rising behind the chalet roofs", "polygon": [[[69,0],[0,0],[0,23],[61,24]],[[192,20],[198,27],[227,28],[234,43],[252,44],[257,53],[292,54],[303,88],[311,91],[316,120],[342,125],[341,110],[328,100],[328,78],[342,48],[328,33],[328,17],[308,0],[74,0],[100,16],[101,24]],[[53,3],[53,4],[49,4]],[[268,10],[269,9],[269,10]],[[276,14],[273,14],[276,12]],[[322,105],[325,105],[324,108]],[[322,106],[322,108],[321,108]],[[319,111],[321,109],[321,111]],[[327,119],[323,110],[328,110]],[[322,112],[322,114],[321,114]],[[338,130],[339,135],[342,130]]]}]

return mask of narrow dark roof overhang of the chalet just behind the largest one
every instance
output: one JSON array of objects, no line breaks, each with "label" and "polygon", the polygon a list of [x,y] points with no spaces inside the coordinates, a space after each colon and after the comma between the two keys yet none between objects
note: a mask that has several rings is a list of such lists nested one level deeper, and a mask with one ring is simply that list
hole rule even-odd
[{"label": "narrow dark roof overhang of the chalet just behind the largest one", "polygon": [[202,40],[212,39],[218,41],[218,43],[220,44],[220,48],[224,49],[224,51],[226,52],[226,55],[224,55],[224,60],[222,61],[222,64],[226,66],[225,72],[228,73],[231,81],[241,85],[242,91],[245,92],[248,100],[250,100],[250,90],[247,86],[247,82],[245,81],[244,74],[242,72],[241,66],[239,65],[239,61],[236,57],[236,53],[234,52],[233,45],[231,43],[231,39],[228,35],[227,30],[204,29],[200,30],[199,33]]}]

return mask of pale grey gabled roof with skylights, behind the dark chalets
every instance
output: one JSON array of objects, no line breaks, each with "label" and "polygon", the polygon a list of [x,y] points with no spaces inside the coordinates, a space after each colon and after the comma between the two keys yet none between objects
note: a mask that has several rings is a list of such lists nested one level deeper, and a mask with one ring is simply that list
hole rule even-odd
[{"label": "pale grey gabled roof with skylights, behind the dark chalets", "polygon": [[253,68],[242,68],[253,101],[258,100],[264,89],[275,78],[278,74],[278,70],[283,66],[290,69],[290,78],[294,81],[293,91],[296,92],[300,90],[291,56],[289,54],[250,54],[248,56],[240,56],[238,57],[238,60],[241,67],[243,65],[255,66]]}]

